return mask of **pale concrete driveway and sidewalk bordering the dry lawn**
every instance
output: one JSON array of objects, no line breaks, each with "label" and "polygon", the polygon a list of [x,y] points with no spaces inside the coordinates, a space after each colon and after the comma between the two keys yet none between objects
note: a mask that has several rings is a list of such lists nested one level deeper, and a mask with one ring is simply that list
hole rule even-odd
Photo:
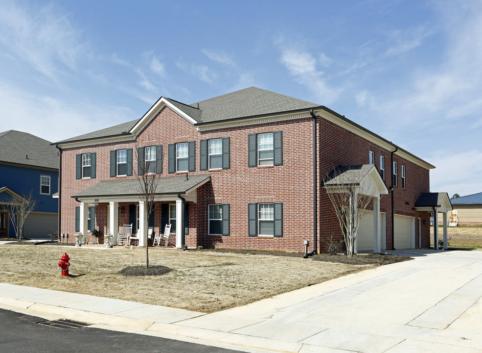
[{"label": "pale concrete driveway and sidewalk bordering the dry lawn", "polygon": [[0,283],[0,307],[246,352],[482,352],[482,252],[415,260],[212,314]]}]

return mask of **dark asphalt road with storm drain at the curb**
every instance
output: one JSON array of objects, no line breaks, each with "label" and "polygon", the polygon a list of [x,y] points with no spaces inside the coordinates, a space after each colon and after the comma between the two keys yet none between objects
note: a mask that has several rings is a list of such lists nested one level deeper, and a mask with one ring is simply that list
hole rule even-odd
[{"label": "dark asphalt road with storm drain at the curb", "polygon": [[45,319],[0,309],[0,352],[9,353],[236,353],[167,338],[100,328],[54,328]]}]

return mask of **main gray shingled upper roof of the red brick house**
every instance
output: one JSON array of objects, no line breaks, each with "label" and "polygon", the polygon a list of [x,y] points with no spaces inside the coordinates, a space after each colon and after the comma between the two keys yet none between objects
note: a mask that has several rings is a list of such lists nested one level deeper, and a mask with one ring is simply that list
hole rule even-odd
[{"label": "main gray shingled upper roof of the red brick house", "polygon": [[[290,110],[306,109],[320,106],[319,104],[302,101],[297,98],[267,91],[257,87],[249,87],[236,92],[214,97],[199,103],[184,104],[164,97],[166,101],[175,105],[197,123],[209,123],[221,120],[250,117]],[[199,109],[197,108],[199,104]],[[75,136],[58,143],[89,140],[113,135],[133,128],[139,119],[128,123],[107,127],[105,129]]]}]

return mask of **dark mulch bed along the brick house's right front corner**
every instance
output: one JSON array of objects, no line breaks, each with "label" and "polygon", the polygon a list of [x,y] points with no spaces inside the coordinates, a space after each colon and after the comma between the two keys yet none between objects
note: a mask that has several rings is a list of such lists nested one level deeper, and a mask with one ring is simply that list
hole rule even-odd
[{"label": "dark mulch bed along the brick house's right front corner", "polygon": [[[272,256],[289,256],[303,257],[303,252],[278,252],[278,251],[261,251],[261,250],[233,250],[233,249],[196,249],[189,251],[213,251],[213,252],[233,252],[250,255],[272,255]],[[329,255],[327,253],[316,254],[310,256],[309,259],[314,261],[339,262],[349,265],[388,265],[391,263],[413,260],[413,257],[401,255],[382,255],[378,253],[358,254],[348,257],[344,254]]]}]

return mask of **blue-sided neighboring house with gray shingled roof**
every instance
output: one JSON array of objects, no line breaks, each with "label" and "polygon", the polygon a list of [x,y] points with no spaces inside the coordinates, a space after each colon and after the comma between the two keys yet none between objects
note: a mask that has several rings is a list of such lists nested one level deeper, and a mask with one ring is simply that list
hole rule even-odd
[{"label": "blue-sided neighboring house with gray shingled roof", "polygon": [[[59,155],[55,146],[26,132],[0,132],[0,206],[30,192],[38,202],[27,217],[25,238],[46,238],[58,228]],[[0,237],[15,237],[8,213],[0,207]]]}]

